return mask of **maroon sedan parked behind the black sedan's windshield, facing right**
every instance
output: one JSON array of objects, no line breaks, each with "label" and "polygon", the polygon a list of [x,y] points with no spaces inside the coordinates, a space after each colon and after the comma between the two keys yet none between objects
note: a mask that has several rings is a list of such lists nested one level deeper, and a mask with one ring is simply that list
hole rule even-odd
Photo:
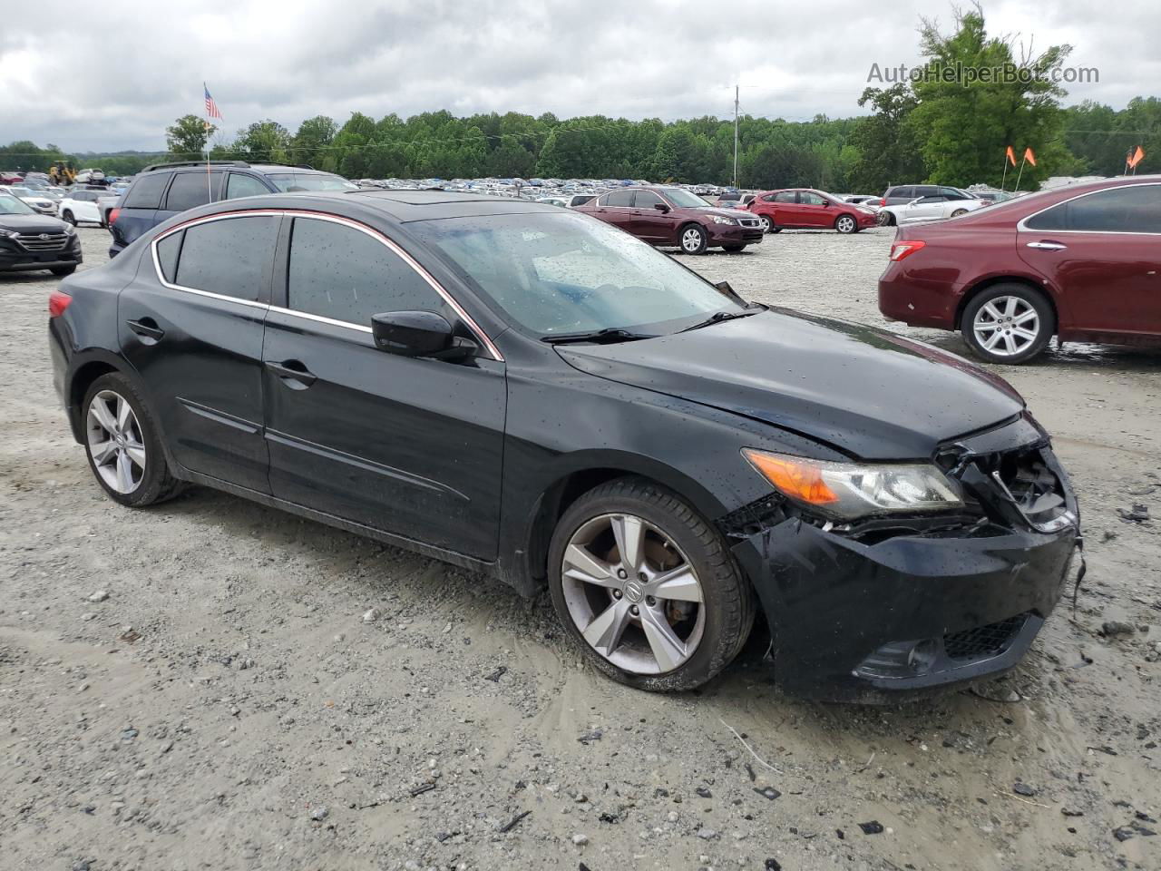
[{"label": "maroon sedan parked behind the black sedan's windshield, facing right", "polygon": [[678,245],[687,254],[713,247],[741,251],[762,242],[763,235],[758,218],[750,213],[711,206],[682,187],[610,190],[576,210],[652,245]]}]

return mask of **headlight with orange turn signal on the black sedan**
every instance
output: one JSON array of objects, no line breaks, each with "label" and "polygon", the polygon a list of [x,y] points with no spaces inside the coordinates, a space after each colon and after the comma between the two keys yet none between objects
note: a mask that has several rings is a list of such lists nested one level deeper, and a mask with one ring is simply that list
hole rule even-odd
[{"label": "headlight with orange turn signal on the black sedan", "polygon": [[742,454],[787,498],[835,519],[964,505],[957,484],[930,463],[825,462],[750,448]]}]

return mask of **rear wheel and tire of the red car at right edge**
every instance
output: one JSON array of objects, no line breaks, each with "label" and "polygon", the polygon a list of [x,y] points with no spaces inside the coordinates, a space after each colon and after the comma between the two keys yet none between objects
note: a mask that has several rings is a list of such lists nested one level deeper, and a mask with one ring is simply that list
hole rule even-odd
[{"label": "rear wheel and tire of the red car at right edge", "polygon": [[964,309],[960,332],[987,362],[1022,363],[1039,355],[1055,332],[1048,298],[1027,285],[993,285]]}]

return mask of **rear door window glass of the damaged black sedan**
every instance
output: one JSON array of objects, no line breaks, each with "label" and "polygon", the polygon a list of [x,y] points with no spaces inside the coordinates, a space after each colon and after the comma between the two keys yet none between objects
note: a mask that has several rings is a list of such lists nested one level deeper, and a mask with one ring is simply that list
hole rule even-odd
[{"label": "rear door window glass of the damaged black sedan", "polygon": [[280,221],[274,215],[246,215],[186,228],[174,283],[257,301],[274,259]]}]

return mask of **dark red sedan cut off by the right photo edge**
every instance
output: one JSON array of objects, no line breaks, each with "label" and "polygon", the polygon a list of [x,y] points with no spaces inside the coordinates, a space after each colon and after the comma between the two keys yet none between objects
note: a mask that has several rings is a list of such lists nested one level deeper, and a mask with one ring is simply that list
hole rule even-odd
[{"label": "dark red sedan cut off by the right photo edge", "polygon": [[1074,185],[901,226],[879,310],[960,330],[989,362],[1030,360],[1053,334],[1161,344],[1161,177]]}]

